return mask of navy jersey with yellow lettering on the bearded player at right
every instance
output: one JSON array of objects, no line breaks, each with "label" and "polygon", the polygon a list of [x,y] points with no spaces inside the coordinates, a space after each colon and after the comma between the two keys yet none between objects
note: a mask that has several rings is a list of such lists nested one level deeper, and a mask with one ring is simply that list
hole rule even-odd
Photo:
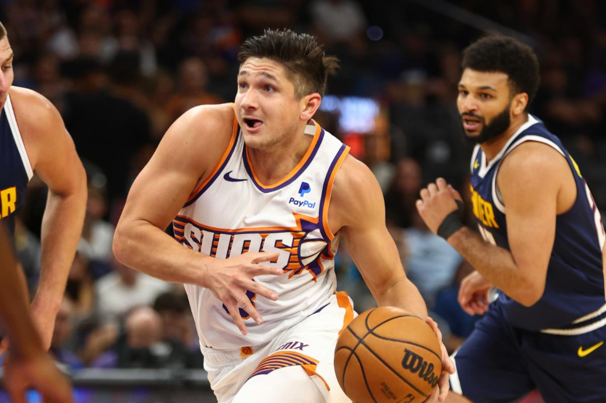
[{"label": "navy jersey with yellow lettering on the bearded player at right", "polygon": [[479,145],[474,149],[471,156],[474,218],[486,241],[509,250],[507,207],[496,186],[496,175],[502,159],[524,141],[542,142],[564,156],[576,182],[577,198],[570,210],[556,218],[556,236],[541,299],[531,307],[524,307],[499,291],[495,303],[502,306],[514,327],[545,333],[553,330],[554,334],[562,335],[597,328],[606,323],[602,273],[604,226],[576,162],[562,142],[534,116],[528,115],[528,121],[491,161],[486,161]]}]

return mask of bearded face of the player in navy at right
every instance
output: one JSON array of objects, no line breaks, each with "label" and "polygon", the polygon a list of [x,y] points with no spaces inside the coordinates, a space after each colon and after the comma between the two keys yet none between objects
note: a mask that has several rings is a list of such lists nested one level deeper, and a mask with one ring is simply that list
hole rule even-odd
[{"label": "bearded face of the player in navy at right", "polygon": [[507,74],[465,68],[459,82],[457,107],[465,137],[474,143],[502,135],[511,124]]}]

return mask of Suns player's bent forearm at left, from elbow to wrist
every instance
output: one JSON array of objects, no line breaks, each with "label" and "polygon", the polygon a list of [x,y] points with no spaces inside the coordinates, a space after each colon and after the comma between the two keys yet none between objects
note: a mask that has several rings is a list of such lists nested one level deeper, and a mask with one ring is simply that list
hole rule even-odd
[{"label": "Suns player's bent forearm at left, from elbow to wrist", "polygon": [[122,264],[155,278],[204,287],[209,256],[183,247],[148,221],[121,222],[113,251]]}]

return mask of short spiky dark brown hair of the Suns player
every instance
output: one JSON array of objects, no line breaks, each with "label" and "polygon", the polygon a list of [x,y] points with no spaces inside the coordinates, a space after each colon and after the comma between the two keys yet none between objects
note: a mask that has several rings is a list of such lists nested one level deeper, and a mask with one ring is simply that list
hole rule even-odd
[{"label": "short spiky dark brown hair of the Suns player", "polygon": [[265,30],[263,35],[246,39],[238,61],[244,64],[248,58],[268,58],[285,65],[299,99],[315,92],[324,95],[328,75],[339,67],[339,60],[326,56],[315,36],[291,30]]}]

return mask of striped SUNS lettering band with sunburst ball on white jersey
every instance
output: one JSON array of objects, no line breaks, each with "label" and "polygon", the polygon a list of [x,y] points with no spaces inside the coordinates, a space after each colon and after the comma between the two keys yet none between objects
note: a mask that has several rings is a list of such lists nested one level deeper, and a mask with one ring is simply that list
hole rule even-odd
[{"label": "striped SUNS lettering band with sunburst ball on white jersey", "polygon": [[278,252],[273,262],[288,278],[308,271],[316,281],[324,271],[324,261],[332,261],[331,242],[324,239],[319,219],[293,213],[295,227],[259,227],[226,229],[203,225],[186,216],[173,220],[175,239],[205,255],[226,259],[246,252]]}]

